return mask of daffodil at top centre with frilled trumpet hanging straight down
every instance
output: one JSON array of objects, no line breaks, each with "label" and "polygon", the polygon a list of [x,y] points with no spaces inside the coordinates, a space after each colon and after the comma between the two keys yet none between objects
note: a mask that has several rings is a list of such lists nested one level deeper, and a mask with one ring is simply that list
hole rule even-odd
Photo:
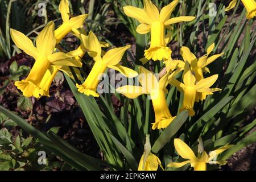
[{"label": "daffodil at top centre with frilled trumpet hanging straight down", "polygon": [[171,18],[172,11],[177,3],[179,3],[179,0],[172,1],[169,5],[164,6],[160,13],[150,0],[144,0],[144,9],[133,6],[123,7],[127,16],[135,18],[141,23],[137,27],[139,34],[151,32],[150,48],[144,52],[146,59],[154,61],[168,59],[171,56],[171,49],[166,47],[166,40],[164,40],[166,28],[170,28],[170,25],[174,23],[189,22],[195,19],[195,16]]}]

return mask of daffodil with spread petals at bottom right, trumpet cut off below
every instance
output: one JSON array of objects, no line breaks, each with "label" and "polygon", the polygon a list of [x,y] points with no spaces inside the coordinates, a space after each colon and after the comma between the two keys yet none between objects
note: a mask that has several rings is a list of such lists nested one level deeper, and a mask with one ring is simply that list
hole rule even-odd
[{"label": "daffodil with spread petals at bottom right, trumpet cut off below", "polygon": [[167,165],[167,167],[180,168],[183,167],[185,164],[190,163],[191,167],[193,167],[195,171],[206,171],[207,163],[225,165],[226,161],[214,161],[214,158],[216,159],[218,154],[221,154],[225,150],[228,150],[230,147],[232,147],[232,145],[223,146],[221,148],[218,148],[217,150],[211,151],[209,155],[207,154],[207,152],[201,151],[199,152],[199,155],[196,156],[192,149],[179,138],[174,139],[174,146],[181,158],[188,160],[179,163],[171,162]]}]

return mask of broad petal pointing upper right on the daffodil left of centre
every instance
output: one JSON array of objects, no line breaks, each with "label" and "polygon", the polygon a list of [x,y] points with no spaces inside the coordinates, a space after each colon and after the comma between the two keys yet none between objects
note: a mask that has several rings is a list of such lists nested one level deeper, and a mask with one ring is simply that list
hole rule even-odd
[{"label": "broad petal pointing upper right on the daffodil left of centre", "polygon": [[116,65],[122,60],[123,54],[130,47],[131,46],[129,45],[129,46],[125,46],[125,47],[118,47],[118,48],[110,49],[102,57],[102,60],[104,61],[104,63],[106,63],[108,65]]}]

